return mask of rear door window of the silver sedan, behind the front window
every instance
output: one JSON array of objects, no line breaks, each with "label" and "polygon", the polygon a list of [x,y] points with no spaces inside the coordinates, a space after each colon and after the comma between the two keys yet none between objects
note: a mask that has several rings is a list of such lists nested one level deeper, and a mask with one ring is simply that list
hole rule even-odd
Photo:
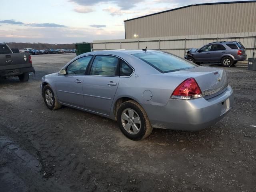
[{"label": "rear door window of the silver sedan, behind the front window", "polygon": [[119,58],[107,55],[97,55],[92,63],[90,75],[118,75]]}]

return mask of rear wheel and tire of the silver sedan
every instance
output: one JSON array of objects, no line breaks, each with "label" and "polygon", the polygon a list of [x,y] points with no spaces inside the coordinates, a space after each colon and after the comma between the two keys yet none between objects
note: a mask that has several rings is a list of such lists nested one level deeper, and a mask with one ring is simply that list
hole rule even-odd
[{"label": "rear wheel and tire of the silver sedan", "polygon": [[122,103],[117,121],[122,133],[131,140],[142,140],[153,130],[145,110],[134,100]]}]

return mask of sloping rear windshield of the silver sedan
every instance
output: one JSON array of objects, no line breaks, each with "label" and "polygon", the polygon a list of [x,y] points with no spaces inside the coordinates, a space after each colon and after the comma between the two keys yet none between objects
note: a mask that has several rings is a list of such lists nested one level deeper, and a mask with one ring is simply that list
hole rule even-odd
[{"label": "sloping rear windshield of the silver sedan", "polygon": [[168,73],[173,71],[184,70],[188,68],[196,67],[195,64],[187,62],[181,58],[178,58],[172,54],[162,52],[147,52],[137,53],[133,56],[146,62],[150,66],[154,67],[161,73]]}]

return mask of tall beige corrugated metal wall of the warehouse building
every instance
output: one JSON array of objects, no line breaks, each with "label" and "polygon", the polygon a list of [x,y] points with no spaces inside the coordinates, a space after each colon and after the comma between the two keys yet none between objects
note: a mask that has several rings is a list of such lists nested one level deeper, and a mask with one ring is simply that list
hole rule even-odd
[{"label": "tall beige corrugated metal wall of the warehouse building", "polygon": [[256,2],[196,5],[125,22],[126,38],[256,31]]}]

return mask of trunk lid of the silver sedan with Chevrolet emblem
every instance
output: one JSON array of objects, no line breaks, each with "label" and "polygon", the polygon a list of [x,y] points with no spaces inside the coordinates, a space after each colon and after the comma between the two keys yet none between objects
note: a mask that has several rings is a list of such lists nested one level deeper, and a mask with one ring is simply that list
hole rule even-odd
[{"label": "trunk lid of the silver sedan with Chevrolet emblem", "polygon": [[205,99],[221,94],[228,86],[226,72],[220,68],[199,66],[171,73],[186,78],[194,78]]}]

